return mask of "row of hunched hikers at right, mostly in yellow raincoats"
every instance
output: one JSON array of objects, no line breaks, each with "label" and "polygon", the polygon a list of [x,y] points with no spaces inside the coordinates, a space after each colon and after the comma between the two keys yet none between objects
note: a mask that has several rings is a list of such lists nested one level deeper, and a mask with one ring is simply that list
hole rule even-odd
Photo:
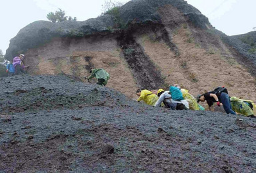
[{"label": "row of hunched hikers at right, mostly in yellow raincoats", "polygon": [[243,114],[252,118],[256,118],[256,106],[252,100],[241,100],[235,96],[229,96],[227,88],[219,86],[212,91],[198,94],[195,98],[188,90],[181,88],[178,84],[170,86],[169,90],[160,88],[157,93],[151,90],[137,90],[139,98],[137,101],[143,100],[146,104],[155,107],[171,108],[172,110],[205,110],[199,102],[207,102],[209,110],[213,109],[213,104],[217,106],[223,105],[227,114]]}]

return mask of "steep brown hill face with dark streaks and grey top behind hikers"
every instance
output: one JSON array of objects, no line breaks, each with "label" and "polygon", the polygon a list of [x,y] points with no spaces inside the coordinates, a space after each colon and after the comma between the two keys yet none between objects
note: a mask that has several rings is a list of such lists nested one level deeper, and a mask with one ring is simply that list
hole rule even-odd
[{"label": "steep brown hill face with dark streaks and grey top behind hikers", "polygon": [[110,15],[32,23],[11,40],[7,57],[25,51],[29,73],[36,75],[66,73],[83,80],[92,67],[104,68],[111,75],[107,86],[131,98],[137,88],[179,83],[194,95],[225,85],[231,96],[256,99],[249,63],[185,1],[129,1],[119,17],[119,23]]}]

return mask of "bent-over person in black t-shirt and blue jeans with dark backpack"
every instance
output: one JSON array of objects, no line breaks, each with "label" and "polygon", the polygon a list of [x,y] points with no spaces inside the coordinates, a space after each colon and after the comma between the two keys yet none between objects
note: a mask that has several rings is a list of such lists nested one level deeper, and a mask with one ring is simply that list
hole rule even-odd
[{"label": "bent-over person in black t-shirt and blue jeans with dark backpack", "polygon": [[206,92],[205,94],[198,94],[197,95],[197,102],[204,102],[207,101],[209,109],[213,111],[213,102],[217,102],[217,105],[220,106],[220,102],[223,104],[224,110],[227,114],[236,114],[231,108],[231,102],[229,98],[229,94],[226,92],[219,92],[219,91],[210,91]]}]

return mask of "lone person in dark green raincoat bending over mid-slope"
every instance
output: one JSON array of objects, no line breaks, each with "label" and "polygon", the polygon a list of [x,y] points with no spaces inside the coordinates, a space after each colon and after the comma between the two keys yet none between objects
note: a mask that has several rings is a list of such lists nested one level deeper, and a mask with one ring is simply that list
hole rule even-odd
[{"label": "lone person in dark green raincoat bending over mid-slope", "polygon": [[91,75],[89,77],[85,77],[85,79],[93,79],[94,77],[98,79],[98,85],[107,85],[107,81],[109,80],[109,73],[104,69],[91,69]]}]

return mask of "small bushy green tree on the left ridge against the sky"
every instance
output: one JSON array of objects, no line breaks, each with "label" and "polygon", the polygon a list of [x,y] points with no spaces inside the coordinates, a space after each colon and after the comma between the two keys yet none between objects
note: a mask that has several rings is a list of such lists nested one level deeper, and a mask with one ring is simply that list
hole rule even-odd
[{"label": "small bushy green tree on the left ridge against the sky", "polygon": [[62,21],[77,21],[77,17],[67,17],[65,16],[65,11],[62,11],[61,9],[59,9],[59,11],[55,11],[55,13],[51,12],[47,14],[47,19],[49,21],[52,21],[53,23],[58,23],[58,22],[62,22]]}]

